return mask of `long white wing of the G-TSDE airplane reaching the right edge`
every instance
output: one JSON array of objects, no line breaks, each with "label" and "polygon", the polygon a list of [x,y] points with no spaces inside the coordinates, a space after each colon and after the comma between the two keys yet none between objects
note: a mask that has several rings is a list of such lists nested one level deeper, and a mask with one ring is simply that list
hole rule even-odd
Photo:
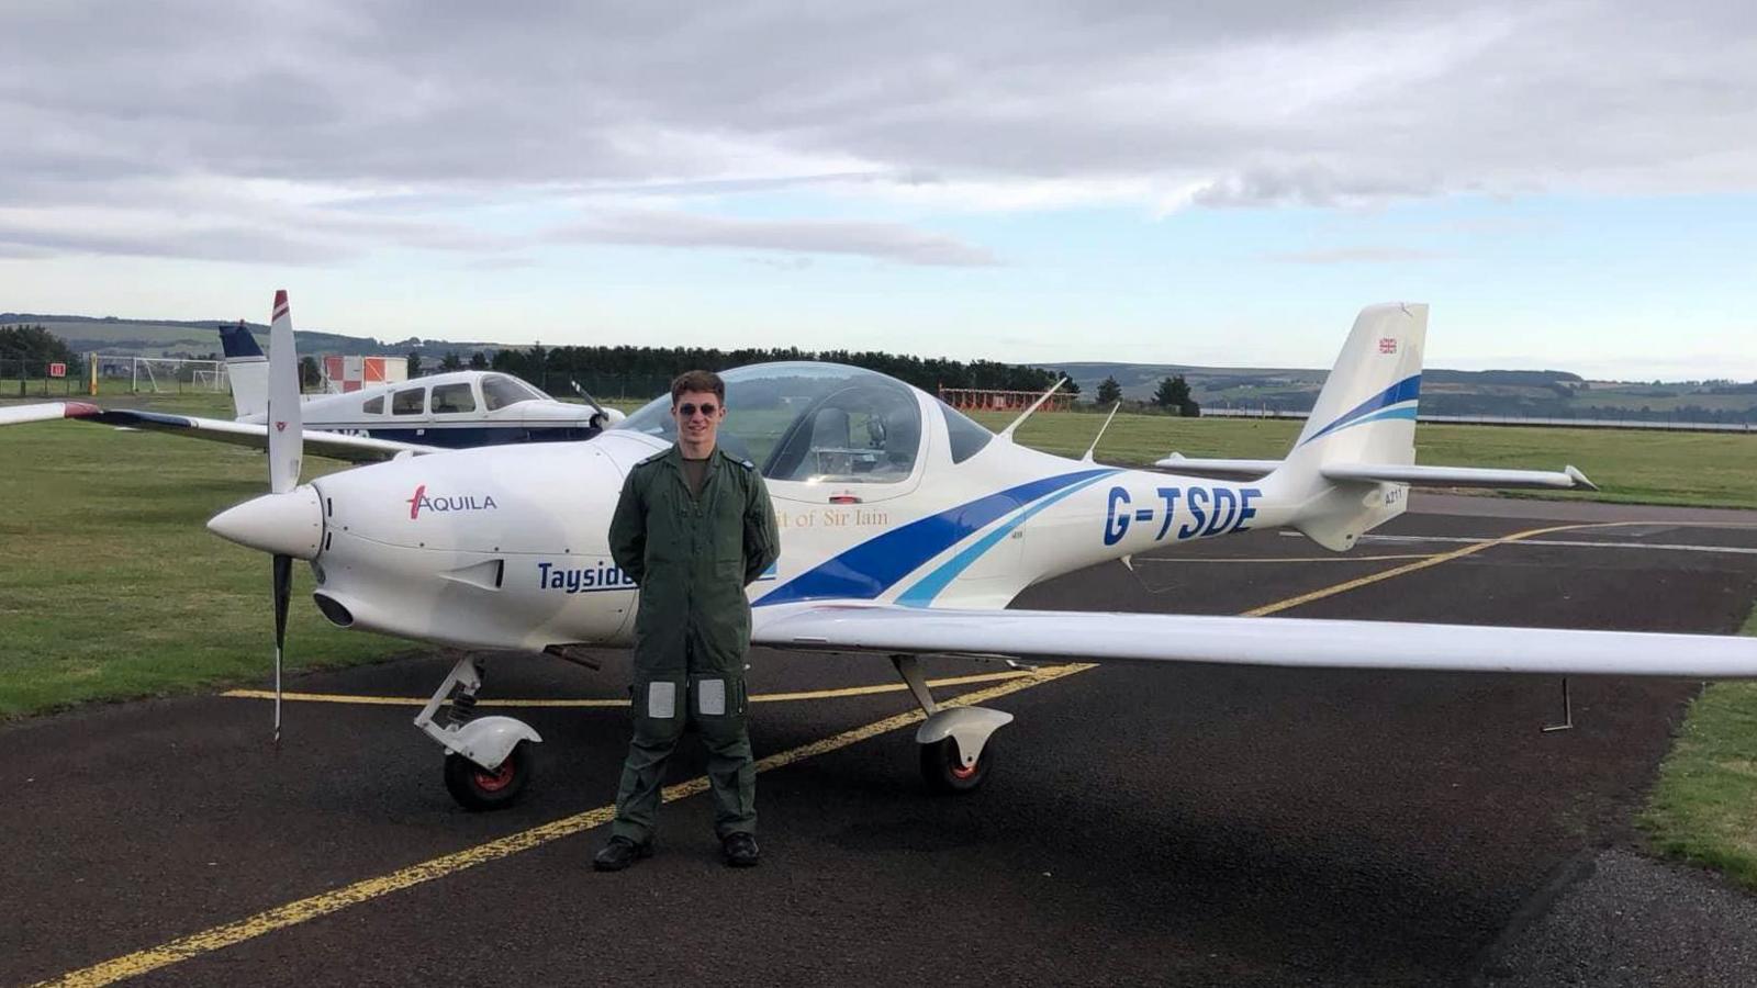
[{"label": "long white wing of the G-TSDE airplane reaching the right edge", "polygon": [[1757,638],[1750,636],[1298,617],[798,603],[757,608],[752,642],[821,652],[1019,659],[1673,679],[1757,677]]}]

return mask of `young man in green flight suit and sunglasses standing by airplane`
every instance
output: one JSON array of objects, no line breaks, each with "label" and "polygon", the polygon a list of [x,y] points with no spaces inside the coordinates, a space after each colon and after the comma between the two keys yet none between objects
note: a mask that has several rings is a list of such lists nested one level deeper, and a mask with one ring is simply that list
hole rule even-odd
[{"label": "young man in green flight suit and sunglasses standing by airplane", "polygon": [[676,445],[629,471],[610,520],[610,554],[636,584],[634,738],[622,763],[610,844],[592,858],[620,872],[652,854],[664,763],[685,726],[708,749],[713,828],[727,865],[757,863],[756,761],[745,726],[750,585],[780,554],[756,464],[719,448],[726,385],[689,371],[671,381]]}]

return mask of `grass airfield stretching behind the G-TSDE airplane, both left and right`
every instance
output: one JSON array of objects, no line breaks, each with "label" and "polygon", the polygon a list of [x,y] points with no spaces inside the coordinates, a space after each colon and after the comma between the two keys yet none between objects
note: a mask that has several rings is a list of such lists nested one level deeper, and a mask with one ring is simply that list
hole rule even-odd
[{"label": "grass airfield stretching behind the G-TSDE airplane, both left and right", "polygon": [[[102,401],[230,417],[227,396]],[[1001,427],[1007,417],[986,417]],[[1040,415],[1019,438],[1079,455],[1098,415]],[[1277,457],[1297,422],[1117,417],[1100,459]],[[1606,498],[1757,506],[1757,440],[1560,429],[1423,427],[1423,462],[1558,468]],[[311,457],[307,476],[344,464]],[[206,520],[264,487],[260,454],[81,422],[0,429],[0,717],[77,701],[264,682],[269,561],[211,536]],[[369,661],[408,643],[330,628],[295,568],[292,668]]]}]

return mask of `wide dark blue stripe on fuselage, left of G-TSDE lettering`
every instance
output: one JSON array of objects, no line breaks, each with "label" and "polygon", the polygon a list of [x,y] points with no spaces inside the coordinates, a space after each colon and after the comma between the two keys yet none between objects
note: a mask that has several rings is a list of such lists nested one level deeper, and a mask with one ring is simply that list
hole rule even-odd
[{"label": "wide dark blue stripe on fuselage, left of G-TSDE lettering", "polygon": [[1109,476],[1116,468],[1081,469],[1009,487],[987,498],[917,519],[903,527],[873,536],[847,552],[775,587],[757,607],[815,598],[873,599],[928,559],[987,527],[994,519],[1016,512],[1038,498],[1054,494],[1082,480]]}]

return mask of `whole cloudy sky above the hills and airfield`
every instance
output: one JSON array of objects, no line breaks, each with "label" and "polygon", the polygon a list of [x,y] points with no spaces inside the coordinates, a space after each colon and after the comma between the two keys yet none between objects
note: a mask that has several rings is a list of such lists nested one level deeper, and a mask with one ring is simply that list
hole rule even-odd
[{"label": "whole cloudy sky above the hills and airfield", "polygon": [[9,0],[0,134],[0,311],[1757,380],[1748,0]]}]

